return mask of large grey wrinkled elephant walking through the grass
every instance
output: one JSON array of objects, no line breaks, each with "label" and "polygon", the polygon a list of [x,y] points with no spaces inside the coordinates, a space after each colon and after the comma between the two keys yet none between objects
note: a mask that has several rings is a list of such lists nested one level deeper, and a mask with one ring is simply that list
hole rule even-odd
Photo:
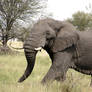
[{"label": "large grey wrinkled elephant walking through the grass", "polygon": [[44,19],[34,25],[24,43],[28,65],[19,82],[31,74],[38,47],[46,50],[52,60],[43,84],[64,80],[69,68],[92,75],[92,32],[79,32],[68,22]]}]

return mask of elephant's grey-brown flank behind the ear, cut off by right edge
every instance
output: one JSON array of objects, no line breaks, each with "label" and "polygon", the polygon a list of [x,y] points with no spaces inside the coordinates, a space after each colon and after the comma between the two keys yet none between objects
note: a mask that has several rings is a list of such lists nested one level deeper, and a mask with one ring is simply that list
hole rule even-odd
[{"label": "elephant's grey-brown flank behind the ear, cut off by right edge", "polygon": [[77,66],[92,69],[92,31],[79,32],[78,53],[80,55]]}]

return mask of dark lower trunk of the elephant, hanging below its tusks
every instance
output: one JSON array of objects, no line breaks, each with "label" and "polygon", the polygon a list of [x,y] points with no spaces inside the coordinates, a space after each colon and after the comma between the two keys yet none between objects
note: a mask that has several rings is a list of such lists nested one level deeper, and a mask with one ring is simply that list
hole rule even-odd
[{"label": "dark lower trunk of the elephant, hanging below its tusks", "polygon": [[25,56],[26,56],[26,60],[27,60],[27,68],[25,70],[25,73],[19,79],[18,82],[23,82],[31,74],[31,72],[34,68],[36,52],[25,51]]}]

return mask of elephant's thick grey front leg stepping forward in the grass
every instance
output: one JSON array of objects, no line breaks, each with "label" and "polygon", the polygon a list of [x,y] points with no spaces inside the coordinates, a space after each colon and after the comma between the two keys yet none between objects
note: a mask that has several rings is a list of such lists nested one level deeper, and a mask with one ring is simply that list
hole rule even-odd
[{"label": "elephant's thick grey front leg stepping forward in the grass", "polygon": [[43,78],[42,83],[53,82],[54,80],[63,80],[70,67],[72,55],[67,52],[59,52],[54,55],[54,61],[48,73]]}]

